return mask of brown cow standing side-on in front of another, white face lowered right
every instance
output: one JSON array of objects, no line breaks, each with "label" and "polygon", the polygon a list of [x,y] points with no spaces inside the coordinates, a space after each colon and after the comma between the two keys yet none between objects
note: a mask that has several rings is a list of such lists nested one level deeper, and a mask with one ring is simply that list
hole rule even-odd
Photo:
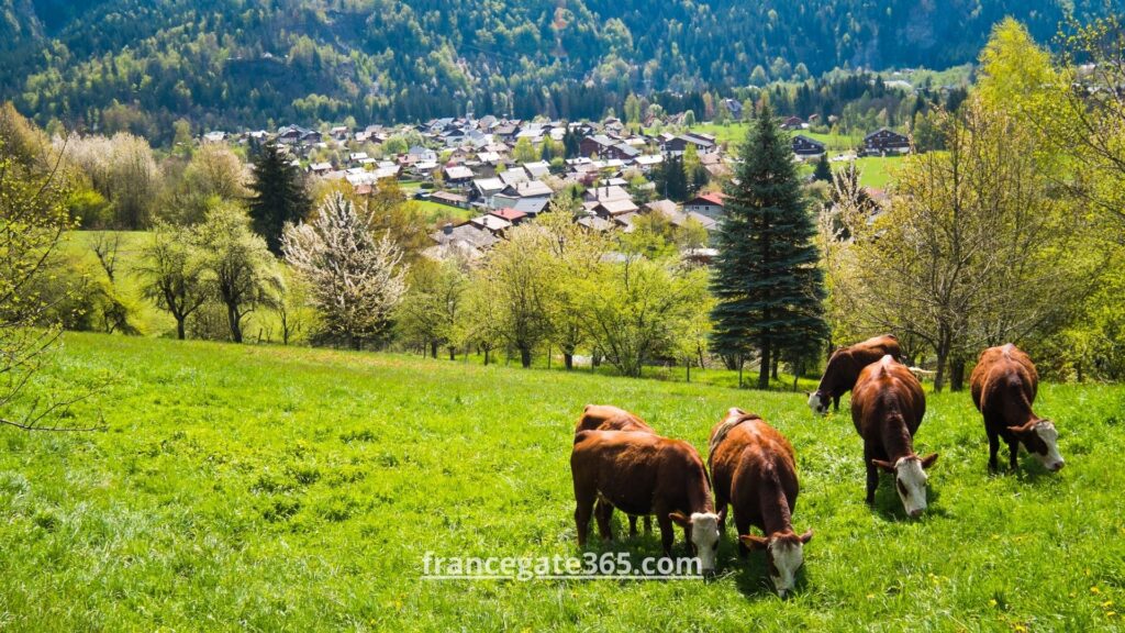
[{"label": "brown cow standing side-on in front of another, white face lowered right", "polygon": [[647,433],[578,431],[570,453],[570,475],[579,546],[586,544],[594,502],[605,500],[596,515],[603,540],[612,537],[613,508],[630,515],[656,515],[666,555],[672,555],[675,521],[684,528],[703,572],[714,572],[719,517],[711,503],[703,460],[691,444]]}]

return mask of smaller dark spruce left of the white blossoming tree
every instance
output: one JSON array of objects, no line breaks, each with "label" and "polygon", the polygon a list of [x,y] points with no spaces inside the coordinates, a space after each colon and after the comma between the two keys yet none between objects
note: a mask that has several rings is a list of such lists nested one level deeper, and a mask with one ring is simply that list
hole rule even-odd
[{"label": "smaller dark spruce left of the white blossoming tree", "polygon": [[276,143],[268,143],[254,160],[254,180],[250,185],[250,217],[254,231],[266,238],[273,255],[281,255],[281,232],[287,222],[305,220],[312,200],[305,193],[300,171],[281,153]]}]

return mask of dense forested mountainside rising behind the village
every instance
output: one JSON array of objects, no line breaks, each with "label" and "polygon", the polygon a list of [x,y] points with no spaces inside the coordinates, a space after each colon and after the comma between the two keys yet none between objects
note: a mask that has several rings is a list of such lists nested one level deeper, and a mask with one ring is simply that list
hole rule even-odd
[{"label": "dense forested mountainside rising behind the village", "polygon": [[0,99],[156,140],[460,114],[600,116],[629,92],[947,68],[1007,15],[1050,39],[1096,0],[0,0]]}]

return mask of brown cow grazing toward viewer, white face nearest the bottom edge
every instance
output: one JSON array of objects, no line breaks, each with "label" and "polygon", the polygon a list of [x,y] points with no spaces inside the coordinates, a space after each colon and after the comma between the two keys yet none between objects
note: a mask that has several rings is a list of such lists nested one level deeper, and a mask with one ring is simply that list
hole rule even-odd
[{"label": "brown cow grazing toward viewer, white face nearest the bottom edge", "polygon": [[[730,409],[711,429],[708,467],[719,529],[726,525],[730,503],[739,534],[738,553],[765,550],[770,578],[777,595],[785,597],[804,564],[803,546],[812,538],[811,529],[798,536],[790,519],[798,493],[793,447],[760,417]],[[765,536],[750,535],[752,525]]]}]

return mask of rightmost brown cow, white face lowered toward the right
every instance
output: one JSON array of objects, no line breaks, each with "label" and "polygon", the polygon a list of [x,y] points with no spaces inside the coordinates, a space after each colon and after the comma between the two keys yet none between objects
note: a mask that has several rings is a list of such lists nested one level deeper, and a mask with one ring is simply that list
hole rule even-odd
[{"label": "rightmost brown cow, white face lowered toward the right", "polygon": [[990,347],[981,353],[969,380],[973,404],[984,417],[989,470],[997,469],[996,454],[1001,438],[1008,444],[1011,470],[1016,470],[1020,443],[1048,471],[1063,467],[1065,462],[1059,454],[1059,431],[1054,422],[1032,411],[1040,375],[1026,354],[1011,344]]}]

